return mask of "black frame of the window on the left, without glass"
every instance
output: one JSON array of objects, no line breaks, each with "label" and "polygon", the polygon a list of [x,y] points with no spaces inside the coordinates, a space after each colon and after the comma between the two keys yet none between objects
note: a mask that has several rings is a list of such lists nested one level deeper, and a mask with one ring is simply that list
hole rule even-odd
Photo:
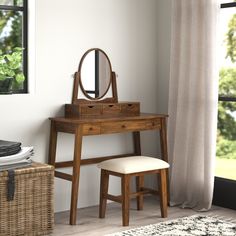
[{"label": "black frame of the window on the left, without glass", "polygon": [[23,0],[22,6],[10,6],[10,5],[0,4],[0,11],[1,10],[22,12],[22,17],[23,17],[22,47],[24,48],[22,57],[23,57],[23,73],[25,75],[25,81],[23,83],[23,88],[12,91],[12,94],[28,93],[28,0]]}]

